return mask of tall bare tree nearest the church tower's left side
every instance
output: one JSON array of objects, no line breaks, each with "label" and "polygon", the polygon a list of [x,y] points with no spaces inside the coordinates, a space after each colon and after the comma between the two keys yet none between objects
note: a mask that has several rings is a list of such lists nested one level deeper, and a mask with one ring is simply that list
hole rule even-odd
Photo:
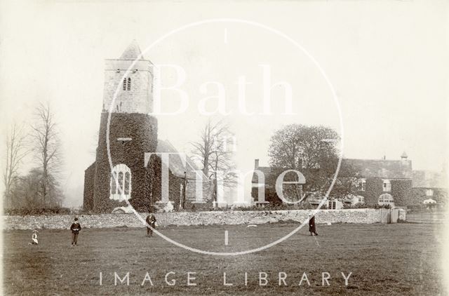
[{"label": "tall bare tree nearest the church tower's left side", "polygon": [[58,187],[57,175],[60,168],[60,140],[58,137],[55,116],[51,107],[40,104],[36,107],[36,123],[34,130],[34,149],[36,159],[39,160],[39,169],[42,171],[41,196],[43,205],[46,205],[49,190]]}]

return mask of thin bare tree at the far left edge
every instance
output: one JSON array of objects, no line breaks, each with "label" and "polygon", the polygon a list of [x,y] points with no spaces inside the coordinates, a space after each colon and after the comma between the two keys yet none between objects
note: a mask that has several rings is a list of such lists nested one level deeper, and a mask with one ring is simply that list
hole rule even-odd
[{"label": "thin bare tree at the far left edge", "polygon": [[13,123],[11,130],[6,135],[6,166],[4,170],[4,185],[5,185],[5,207],[11,206],[11,191],[13,184],[18,180],[19,169],[22,164],[22,160],[27,156],[29,150],[25,143],[25,130],[24,126],[18,126]]}]

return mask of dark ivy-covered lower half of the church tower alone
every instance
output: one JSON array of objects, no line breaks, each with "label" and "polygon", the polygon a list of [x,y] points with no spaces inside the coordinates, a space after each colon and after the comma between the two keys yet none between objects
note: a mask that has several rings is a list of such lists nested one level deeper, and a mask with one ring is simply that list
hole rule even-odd
[{"label": "dark ivy-covered lower half of the church tower alone", "polygon": [[[109,199],[109,180],[111,166],[109,166],[106,132],[108,113],[101,114],[98,149],[95,159],[95,185],[93,194],[93,211],[96,213],[110,213],[117,206],[126,206],[126,202]],[[131,140],[122,142],[118,138],[130,137]],[[152,192],[152,170],[155,158],[149,161],[145,168],[145,153],[156,152],[157,121],[147,114],[112,113],[109,124],[109,152],[112,166],[124,163],[131,170],[131,199],[130,203],[136,210],[145,210],[150,204]]]}]

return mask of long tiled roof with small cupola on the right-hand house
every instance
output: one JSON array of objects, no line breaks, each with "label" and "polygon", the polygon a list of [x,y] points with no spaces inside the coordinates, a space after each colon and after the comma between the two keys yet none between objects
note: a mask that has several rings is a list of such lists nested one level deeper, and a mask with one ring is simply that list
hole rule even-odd
[{"label": "long tiled roof with small cupola on the right-hand house", "polygon": [[352,166],[361,177],[411,179],[412,161],[387,159],[343,159],[342,166]]}]

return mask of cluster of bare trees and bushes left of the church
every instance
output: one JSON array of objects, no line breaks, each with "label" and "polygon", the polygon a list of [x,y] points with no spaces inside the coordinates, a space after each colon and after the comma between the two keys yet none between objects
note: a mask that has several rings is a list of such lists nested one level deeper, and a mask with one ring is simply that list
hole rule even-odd
[{"label": "cluster of bare trees and bushes left of the church", "polygon": [[[32,123],[12,123],[4,143],[4,208],[61,206],[61,143],[51,105],[40,103]],[[27,159],[32,167],[23,173]]]}]

